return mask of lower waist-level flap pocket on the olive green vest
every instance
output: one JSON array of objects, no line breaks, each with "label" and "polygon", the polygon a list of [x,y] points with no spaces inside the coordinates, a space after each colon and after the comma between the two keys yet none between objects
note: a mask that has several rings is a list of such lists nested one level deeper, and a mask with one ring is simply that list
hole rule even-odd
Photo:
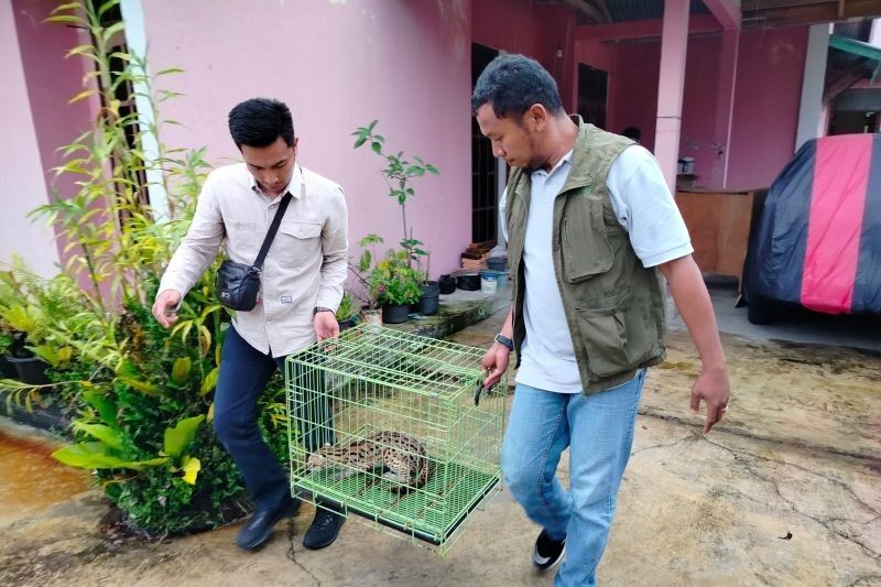
[{"label": "lower waist-level flap pocket on the olive green vest", "polygon": [[578,327],[587,352],[588,370],[597,378],[611,377],[630,368],[627,346],[624,311],[630,301],[630,289],[595,302],[611,305],[608,307],[577,307]]}]

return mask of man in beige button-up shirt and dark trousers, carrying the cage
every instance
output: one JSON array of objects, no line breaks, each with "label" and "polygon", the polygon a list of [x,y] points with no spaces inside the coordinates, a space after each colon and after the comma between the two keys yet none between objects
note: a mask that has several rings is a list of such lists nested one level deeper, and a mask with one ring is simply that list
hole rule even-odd
[{"label": "man in beige button-up shirt and dark trousers, carrying the cage", "polygon": [[[162,276],[153,315],[166,328],[176,322],[175,308],[221,243],[232,261],[253,263],[290,194],[263,263],[260,301],[250,312],[237,312],[227,330],[214,400],[218,439],[257,503],[237,539],[251,551],[269,539],[279,520],[298,509],[284,470],[260,436],[257,401],[274,370],[283,371],[287,355],[316,338],[339,335],[335,312],[346,281],[348,213],[337,184],[297,165],[298,139],[284,104],[246,100],[230,111],[229,130],[244,163],[217,169],[205,181],[193,224]],[[328,422],[329,406],[320,409],[327,415],[315,420]],[[302,430],[306,449],[333,443],[331,428]],[[331,544],[342,520],[318,508],[304,546]]]}]

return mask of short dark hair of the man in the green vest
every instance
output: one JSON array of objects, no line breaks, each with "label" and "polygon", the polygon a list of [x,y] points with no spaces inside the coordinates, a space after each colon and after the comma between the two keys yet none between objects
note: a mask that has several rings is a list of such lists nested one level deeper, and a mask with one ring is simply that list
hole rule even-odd
[{"label": "short dark hair of the man in the green vest", "polygon": [[498,118],[520,118],[534,104],[548,112],[563,111],[557,83],[535,59],[524,55],[499,55],[483,69],[471,94],[471,113],[492,105]]}]

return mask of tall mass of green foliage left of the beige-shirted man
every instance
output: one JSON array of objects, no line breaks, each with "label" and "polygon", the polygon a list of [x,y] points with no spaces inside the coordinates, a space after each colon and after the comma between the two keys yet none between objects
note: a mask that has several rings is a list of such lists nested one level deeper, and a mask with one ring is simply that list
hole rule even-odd
[{"label": "tall mass of green foliage left of the beige-shirted man", "polygon": [[[144,75],[144,59],[113,46],[121,24],[101,24],[100,17],[118,0],[96,4],[67,3],[48,19],[90,33],[91,44],[68,52],[93,68],[72,101],[97,96],[102,104],[93,127],[59,149],[65,159],[56,173],[76,177],[75,193],[56,193],[35,210],[61,229],[65,272],[46,280],[20,262],[0,271],[0,334],[21,334],[25,350],[51,365],[51,383],[0,381],[0,395],[28,409],[52,396],[75,413],[75,444],[54,456],[94,469],[130,524],[155,534],[210,528],[249,507],[240,475],[210,425],[229,323],[214,296],[214,268],[184,300],[173,329],[163,329],[150,309],[163,265],[192,220],[208,165],[202,150],[160,144],[159,160],[145,154],[143,139],[157,137],[160,127],[143,128],[129,108],[133,104],[120,101],[115,90],[126,85],[143,94],[146,88],[141,97],[152,100],[153,80]],[[123,66],[111,68],[111,56]],[[175,94],[155,95],[150,108],[160,120],[155,102]],[[168,217],[162,219],[146,197],[146,172],[156,169],[168,194]],[[278,377],[259,407],[261,432],[285,459],[287,439],[280,430],[285,403]]]}]

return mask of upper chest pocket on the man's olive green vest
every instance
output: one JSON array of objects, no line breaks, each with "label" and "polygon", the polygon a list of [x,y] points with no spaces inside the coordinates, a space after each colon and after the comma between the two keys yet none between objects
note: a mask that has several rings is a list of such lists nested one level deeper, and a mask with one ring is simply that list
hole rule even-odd
[{"label": "upper chest pocket on the man's olive green vest", "polygon": [[606,235],[602,202],[573,197],[563,217],[563,276],[577,283],[612,268],[614,254]]}]

